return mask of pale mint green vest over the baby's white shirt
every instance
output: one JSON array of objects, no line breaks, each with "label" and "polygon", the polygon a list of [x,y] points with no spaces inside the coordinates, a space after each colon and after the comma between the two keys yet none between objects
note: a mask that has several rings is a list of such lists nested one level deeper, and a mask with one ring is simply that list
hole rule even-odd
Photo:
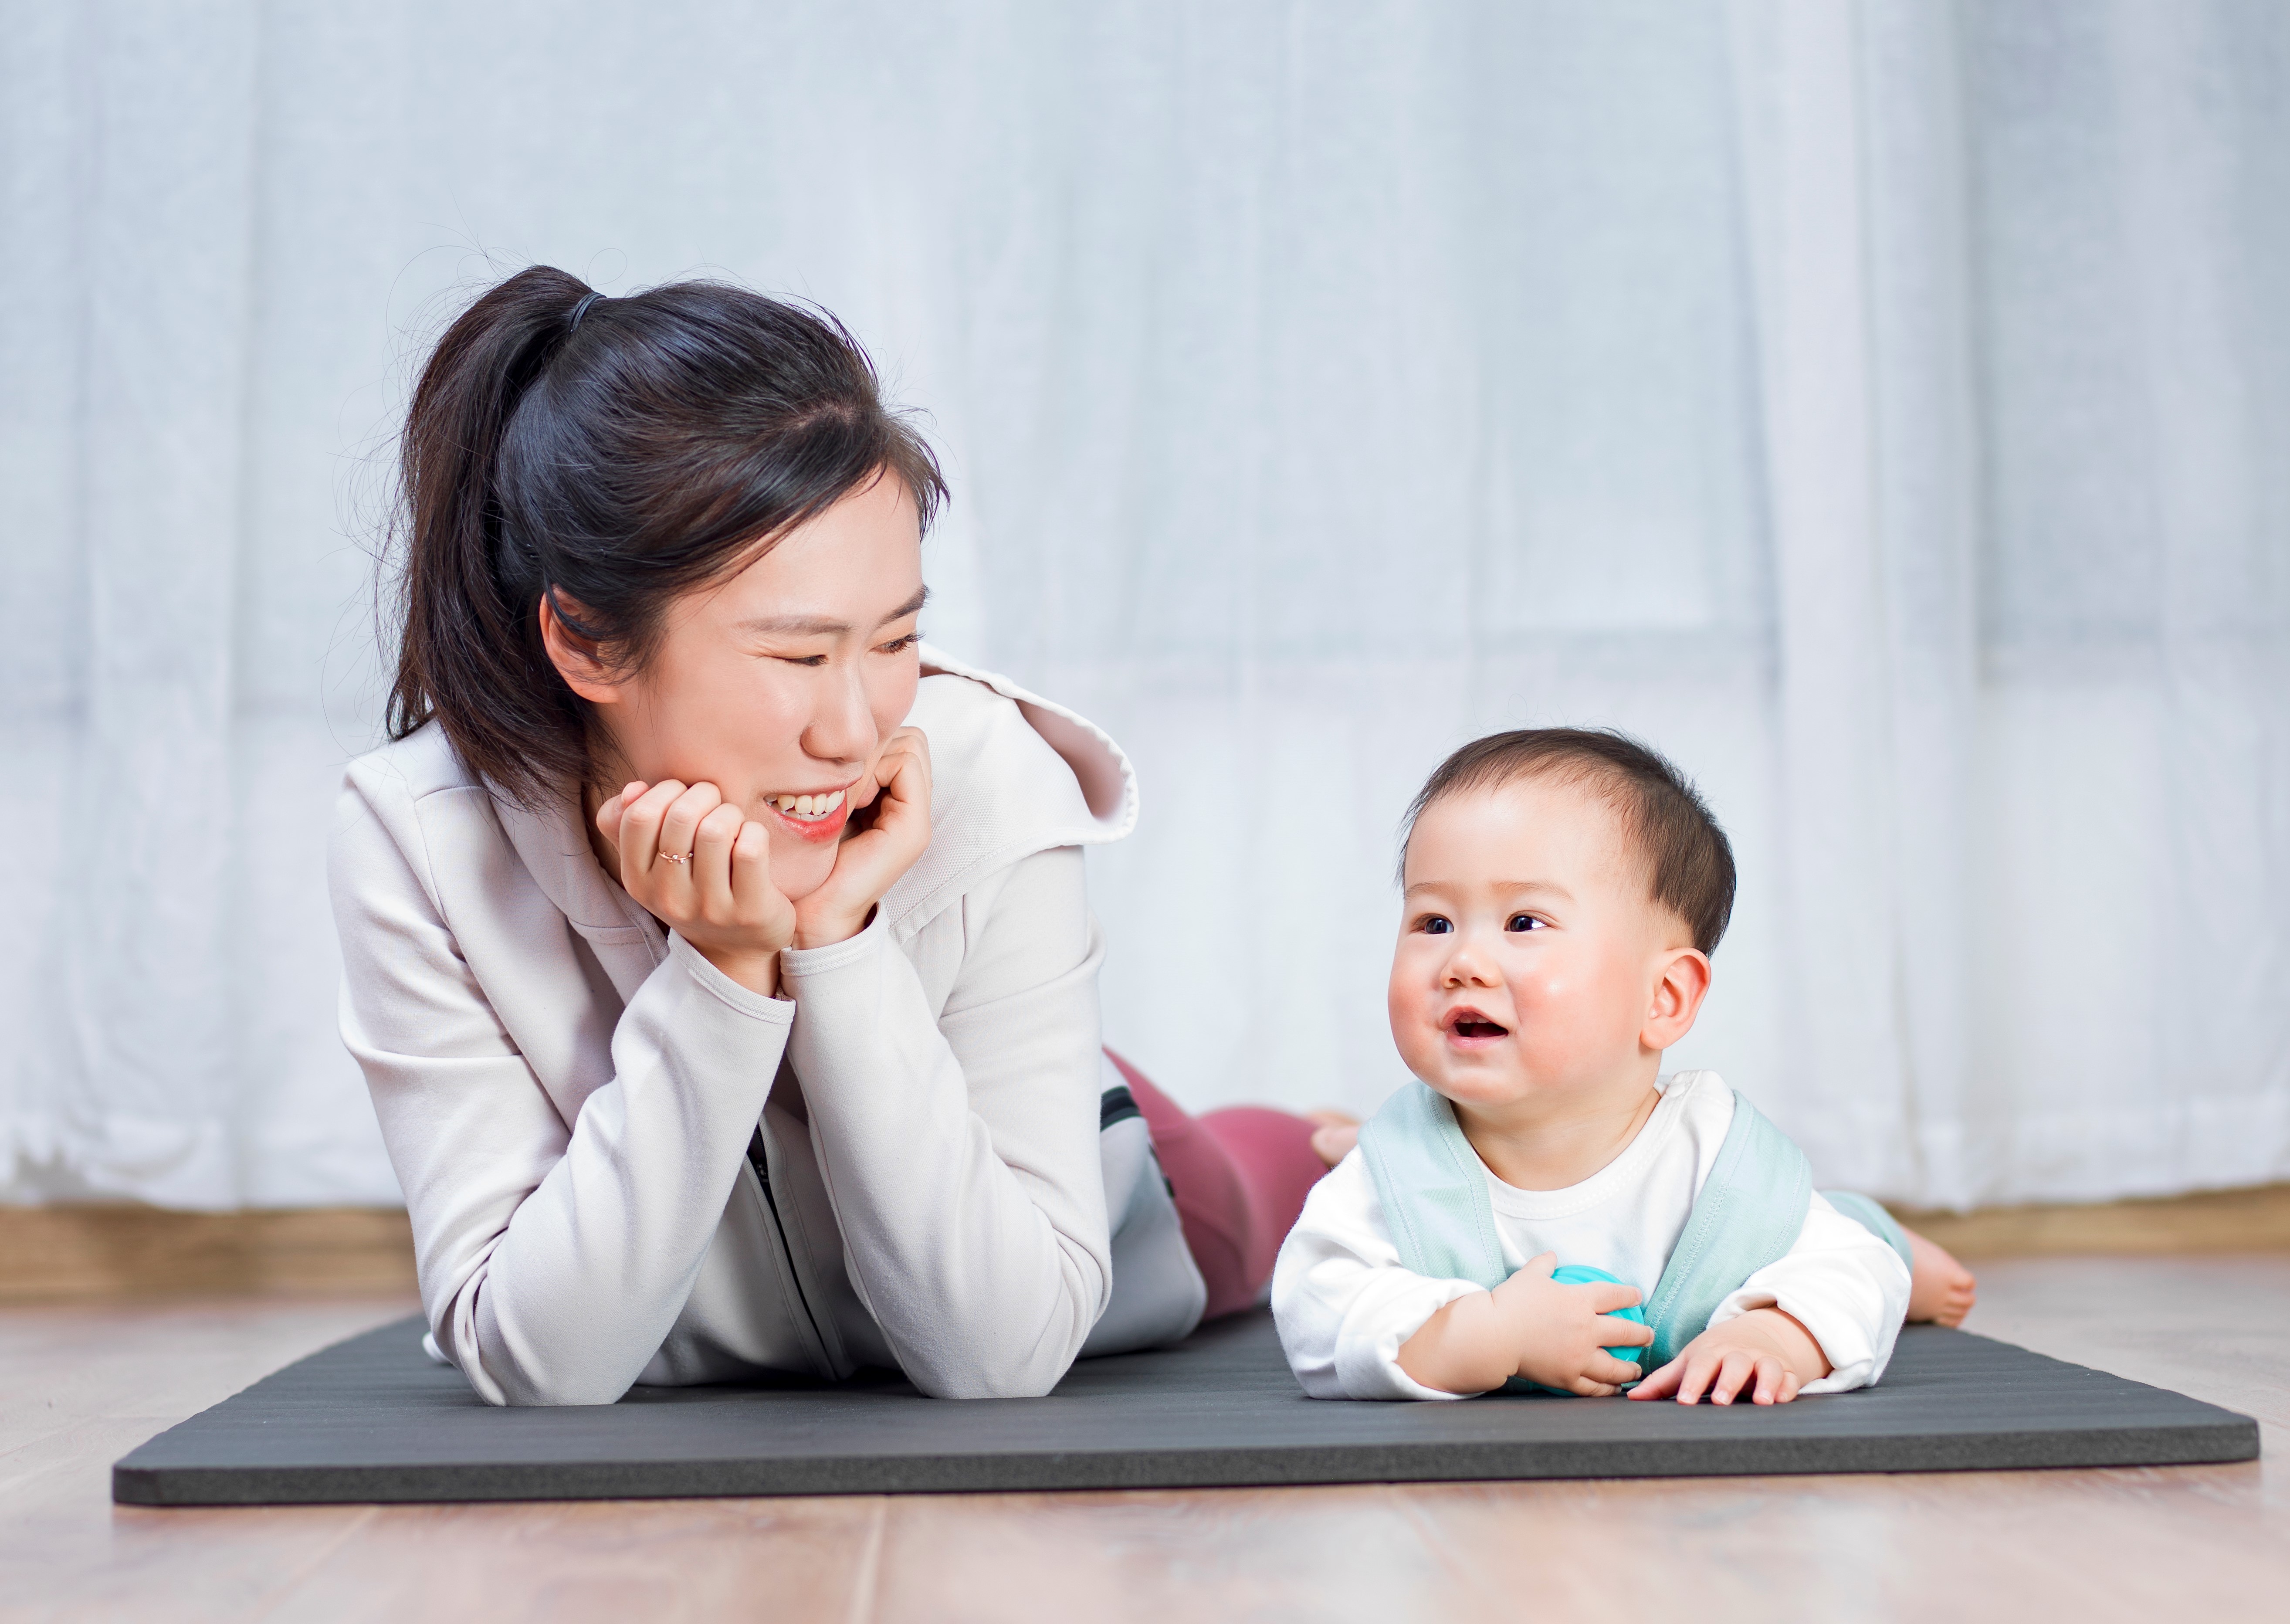
[{"label": "pale mint green vest over the baby's white shirt", "polygon": [[[1385,1099],[1360,1129],[1360,1154],[1408,1271],[1472,1280],[1486,1290],[1509,1278],[1495,1237],[1495,1205],[1486,1193],[1486,1164],[1440,1095],[1411,1081]],[[1647,1299],[1653,1347],[1640,1349],[1640,1370],[1651,1374],[1676,1358],[1701,1335],[1718,1303],[1798,1244],[1811,1193],[1814,1168],[1805,1152],[1736,1093],[1734,1127]],[[1910,1262],[1908,1237],[1889,1212],[1866,1196],[1823,1193],[1901,1253],[1901,1262]]]}]

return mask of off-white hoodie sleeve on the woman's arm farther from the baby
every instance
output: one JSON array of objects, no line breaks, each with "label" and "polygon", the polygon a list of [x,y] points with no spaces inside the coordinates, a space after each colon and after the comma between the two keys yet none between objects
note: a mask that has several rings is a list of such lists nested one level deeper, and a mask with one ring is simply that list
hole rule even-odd
[{"label": "off-white hoodie sleeve on the woman's arm farther from the baby", "polygon": [[[431,804],[483,838],[479,790]],[[431,1335],[488,1404],[611,1404],[692,1294],[795,1006],[669,937],[611,1028],[614,1074],[566,1127],[463,957],[385,767],[353,770],[327,866],[341,1038],[405,1191]],[[570,951],[545,900],[495,923],[536,957]]]}]

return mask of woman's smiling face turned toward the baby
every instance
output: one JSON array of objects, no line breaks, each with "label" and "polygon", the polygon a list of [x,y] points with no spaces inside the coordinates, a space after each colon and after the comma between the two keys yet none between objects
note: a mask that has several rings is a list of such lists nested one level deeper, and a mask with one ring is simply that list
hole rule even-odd
[{"label": "woman's smiling face turned toward the baby", "polygon": [[923,596],[921,527],[891,474],[685,593],[643,671],[575,683],[618,756],[605,795],[630,779],[712,783],[772,831],[772,884],[808,896],[914,708]]}]

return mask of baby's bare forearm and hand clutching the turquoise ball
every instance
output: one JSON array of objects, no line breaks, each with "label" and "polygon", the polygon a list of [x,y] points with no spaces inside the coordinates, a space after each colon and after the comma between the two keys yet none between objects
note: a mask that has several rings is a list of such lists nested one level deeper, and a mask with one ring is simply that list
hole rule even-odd
[{"label": "baby's bare forearm and hand clutching the turquoise ball", "polygon": [[1559,1285],[1550,1278],[1557,1253],[1543,1253],[1493,1292],[1459,1296],[1399,1345],[1399,1367],[1443,1393],[1486,1393],[1511,1377],[1605,1397],[1640,1367],[1608,1347],[1644,1347],[1653,1331],[1608,1319],[1637,1306],[1637,1287],[1610,1280]]}]

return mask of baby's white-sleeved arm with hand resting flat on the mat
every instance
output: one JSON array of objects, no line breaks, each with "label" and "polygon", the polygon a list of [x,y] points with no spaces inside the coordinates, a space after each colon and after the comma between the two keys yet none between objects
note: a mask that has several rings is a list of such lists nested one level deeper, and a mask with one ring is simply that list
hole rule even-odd
[{"label": "baby's white-sleeved arm with hand resting flat on the mat", "polygon": [[1708,1329],[1630,1397],[1756,1404],[1843,1393],[1885,1374],[1908,1312],[1908,1267],[1876,1235],[1814,1196],[1788,1253],[1743,1280]]}]

